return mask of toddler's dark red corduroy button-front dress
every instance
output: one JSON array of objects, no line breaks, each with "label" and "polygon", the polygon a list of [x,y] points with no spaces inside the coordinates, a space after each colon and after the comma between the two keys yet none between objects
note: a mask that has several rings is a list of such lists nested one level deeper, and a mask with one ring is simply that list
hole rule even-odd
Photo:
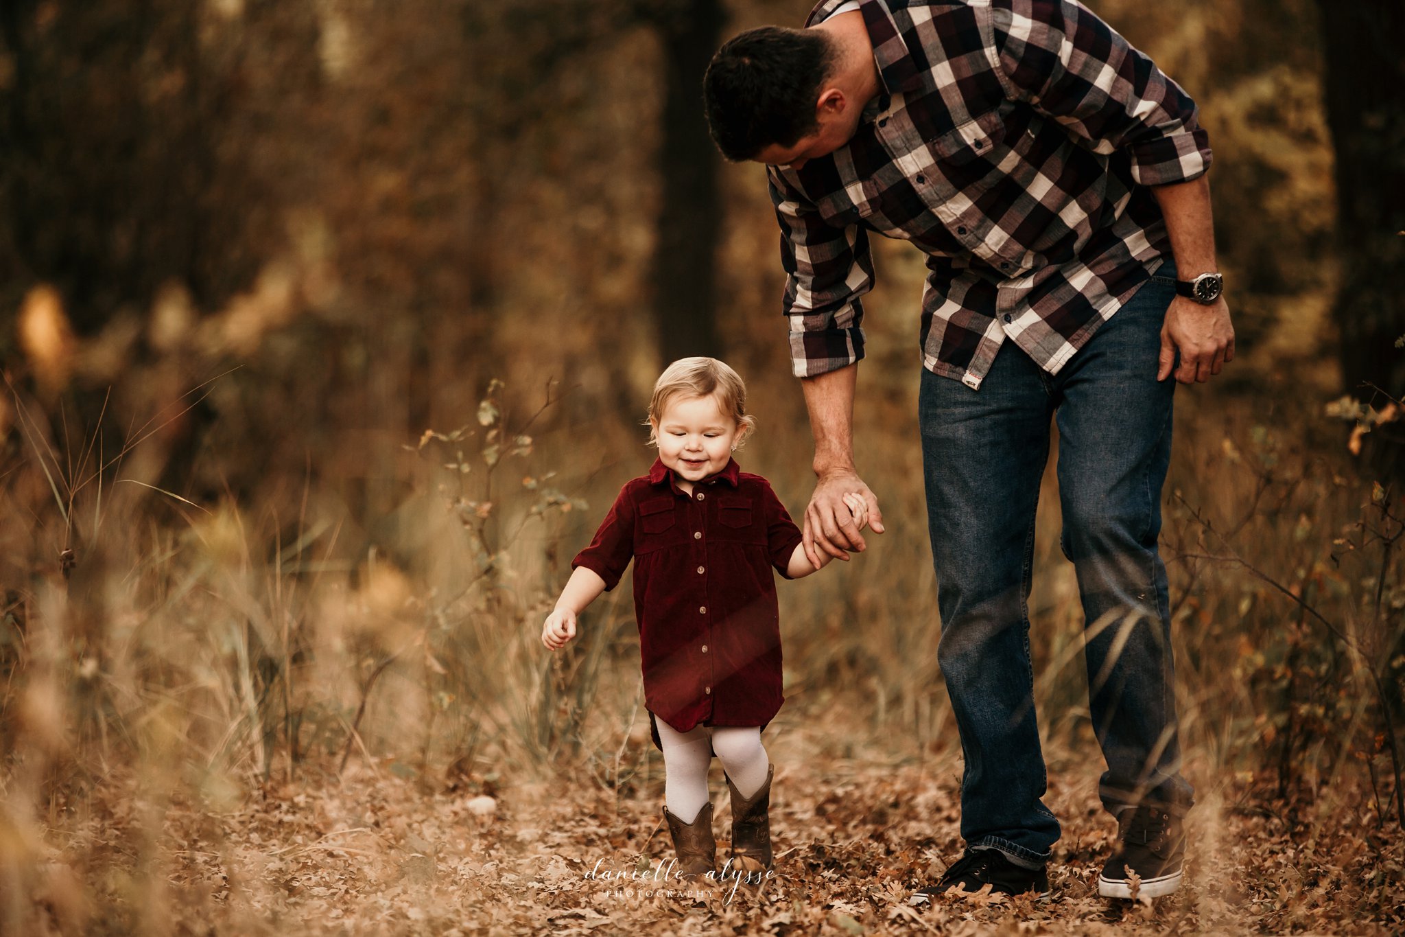
[{"label": "toddler's dark red corduroy button-front dress", "polygon": [[[698,723],[766,726],[781,695],[776,577],[799,528],[770,483],[736,459],[679,487],[663,462],[620,489],[590,546],[570,562],[614,589],[634,559],[643,701],[679,732]],[[787,576],[788,577],[788,576]]]}]

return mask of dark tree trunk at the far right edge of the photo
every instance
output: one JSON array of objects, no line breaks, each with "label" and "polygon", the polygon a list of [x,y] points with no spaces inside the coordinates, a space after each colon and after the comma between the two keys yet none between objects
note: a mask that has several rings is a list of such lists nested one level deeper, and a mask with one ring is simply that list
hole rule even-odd
[{"label": "dark tree trunk at the far right edge of the photo", "polygon": [[[1405,398],[1405,4],[1319,0],[1324,87],[1336,148],[1340,332],[1346,392],[1380,406]],[[1371,466],[1405,480],[1401,435],[1373,433]]]}]

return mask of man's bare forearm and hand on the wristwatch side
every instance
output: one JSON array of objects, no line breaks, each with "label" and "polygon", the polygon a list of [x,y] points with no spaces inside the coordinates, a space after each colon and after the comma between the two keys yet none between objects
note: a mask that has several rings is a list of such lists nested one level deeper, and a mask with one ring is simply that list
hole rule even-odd
[{"label": "man's bare forearm and hand on the wristwatch side", "polygon": [[[1170,251],[1176,257],[1176,278],[1194,280],[1200,274],[1217,273],[1215,232],[1210,211],[1210,183],[1201,176],[1190,183],[1152,185],[1152,195],[1161,204],[1170,235]],[[1161,329],[1161,361],[1156,379],[1165,381],[1180,350],[1176,379],[1182,384],[1204,384],[1220,374],[1227,361],[1234,361],[1234,326],[1224,295],[1205,306],[1189,296],[1176,296],[1166,309]]]}]

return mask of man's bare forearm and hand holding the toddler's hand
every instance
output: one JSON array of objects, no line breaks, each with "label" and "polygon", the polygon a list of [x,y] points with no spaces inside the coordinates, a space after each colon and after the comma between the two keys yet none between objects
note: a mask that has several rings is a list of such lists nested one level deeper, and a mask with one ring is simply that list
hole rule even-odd
[{"label": "man's bare forearm and hand holding the toddler's hand", "polygon": [[864,551],[867,544],[844,504],[844,494],[857,492],[868,503],[868,525],[884,532],[878,497],[854,469],[854,386],[858,364],[802,378],[809,430],[815,437],[815,493],[805,509],[805,556],[818,569],[823,565],[821,549],[836,559],[849,559],[846,551]]}]

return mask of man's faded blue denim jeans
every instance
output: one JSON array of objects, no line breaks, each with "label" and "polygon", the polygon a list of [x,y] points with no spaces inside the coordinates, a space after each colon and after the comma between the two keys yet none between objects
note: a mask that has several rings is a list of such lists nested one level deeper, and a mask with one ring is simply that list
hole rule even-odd
[{"label": "man's faded blue denim jeans", "polygon": [[961,836],[1024,865],[1048,860],[1059,825],[1044,806],[1027,600],[1034,511],[1058,420],[1064,553],[1083,601],[1093,730],[1107,759],[1099,794],[1116,813],[1191,804],[1180,777],[1166,568],[1156,552],[1170,462],[1173,378],[1156,381],[1168,258],[1050,375],[1013,343],[979,391],[922,372],[927,523],[937,570],[937,659],[965,771]]}]

